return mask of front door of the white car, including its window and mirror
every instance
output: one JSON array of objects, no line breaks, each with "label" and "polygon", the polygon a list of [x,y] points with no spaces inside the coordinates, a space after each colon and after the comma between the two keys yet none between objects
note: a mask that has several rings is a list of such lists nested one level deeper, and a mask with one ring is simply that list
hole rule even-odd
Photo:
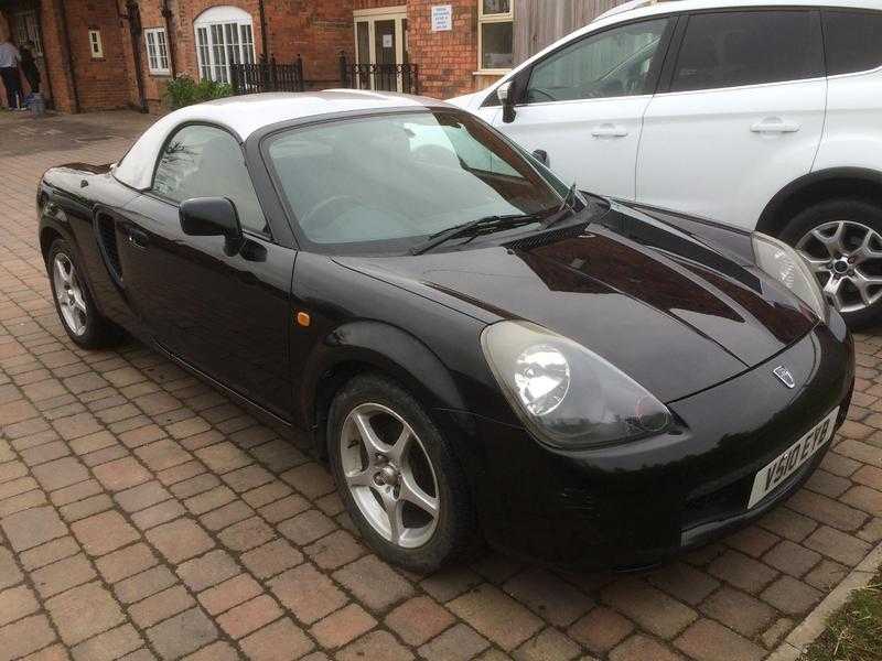
[{"label": "front door of the white car, including its window and mirror", "polygon": [[498,108],[478,111],[529,151],[548,153],[551,170],[583,191],[633,199],[643,113],[652,99],[671,20],[659,18],[591,33],[533,65],[503,122]]}]

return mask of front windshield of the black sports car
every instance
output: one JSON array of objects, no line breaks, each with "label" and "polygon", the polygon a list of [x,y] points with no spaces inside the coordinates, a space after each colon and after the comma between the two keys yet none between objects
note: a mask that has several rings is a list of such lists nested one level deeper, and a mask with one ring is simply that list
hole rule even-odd
[{"label": "front windshield of the black sports car", "polygon": [[459,111],[291,129],[266,153],[302,238],[325,251],[396,251],[477,218],[542,216],[567,192]]}]

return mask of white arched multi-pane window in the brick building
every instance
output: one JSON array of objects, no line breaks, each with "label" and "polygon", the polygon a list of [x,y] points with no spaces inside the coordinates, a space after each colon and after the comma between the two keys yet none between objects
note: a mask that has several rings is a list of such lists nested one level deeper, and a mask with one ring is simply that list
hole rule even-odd
[{"label": "white arched multi-pane window in the brick building", "polygon": [[201,78],[229,83],[230,64],[254,63],[251,25],[251,14],[229,6],[206,9],[193,21]]}]

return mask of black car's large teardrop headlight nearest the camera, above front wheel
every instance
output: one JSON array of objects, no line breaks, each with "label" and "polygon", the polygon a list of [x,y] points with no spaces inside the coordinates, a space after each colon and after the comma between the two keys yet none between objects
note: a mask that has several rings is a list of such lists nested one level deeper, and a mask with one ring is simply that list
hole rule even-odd
[{"label": "black car's large teardrop headlight nearest the camera, above front wheel", "polygon": [[656,434],[670,412],[622,370],[582,345],[529,322],[499,322],[481,345],[524,424],[558,447]]}]

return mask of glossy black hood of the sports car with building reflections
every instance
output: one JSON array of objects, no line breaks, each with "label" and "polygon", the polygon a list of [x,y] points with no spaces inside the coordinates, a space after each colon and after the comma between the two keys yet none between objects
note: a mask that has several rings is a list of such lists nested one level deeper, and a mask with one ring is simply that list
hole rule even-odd
[{"label": "glossy black hood of the sports car with building reflections", "polygon": [[665,402],[767,360],[816,323],[738,257],[621,206],[506,246],[337,261],[487,322],[570,337]]}]

